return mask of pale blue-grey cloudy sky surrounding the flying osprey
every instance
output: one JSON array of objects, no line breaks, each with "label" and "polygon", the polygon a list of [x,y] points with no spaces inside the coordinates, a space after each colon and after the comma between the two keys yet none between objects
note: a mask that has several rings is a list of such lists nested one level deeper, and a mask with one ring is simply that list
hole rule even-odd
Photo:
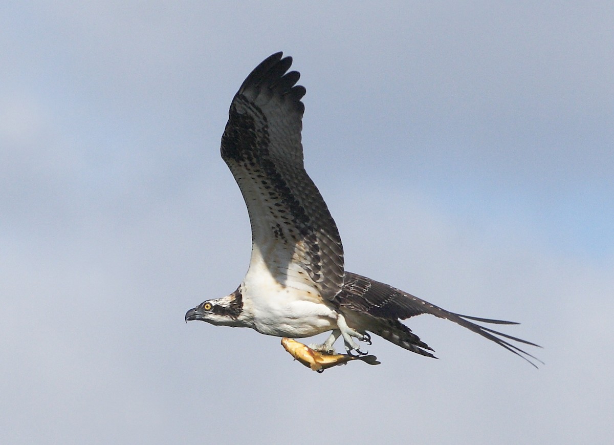
[{"label": "pale blue-grey cloudy sky surrounding the flying osprey", "polygon": [[[611,2],[228,3],[3,4],[0,442],[610,440]],[[184,323],[247,270],[220,136],[279,50],[346,269],[521,322],[540,369],[427,315],[439,360],[323,374]]]}]

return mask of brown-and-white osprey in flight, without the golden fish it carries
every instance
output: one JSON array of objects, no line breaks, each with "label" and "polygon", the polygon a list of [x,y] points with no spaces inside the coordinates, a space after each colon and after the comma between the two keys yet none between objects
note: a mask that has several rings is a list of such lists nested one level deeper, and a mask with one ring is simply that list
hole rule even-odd
[{"label": "brown-and-white osprey in flight, without the golden fish it carries", "polygon": [[[252,227],[249,269],[238,288],[204,301],[185,320],[252,328],[290,338],[332,331],[314,350],[334,353],[343,337],[349,354],[363,355],[357,342],[369,333],[411,352],[433,357],[432,349],[400,320],[430,313],[447,318],[529,363],[534,356],[510,341],[534,345],[472,321],[515,325],[511,321],[468,317],[437,307],[400,289],[344,269],[343,246],[335,221],[303,167],[301,129],[305,88],[289,71],[291,57],[266,58],[243,82],[230,105],[222,135],[222,159],[241,189]],[[527,358],[528,357],[528,358]]]}]

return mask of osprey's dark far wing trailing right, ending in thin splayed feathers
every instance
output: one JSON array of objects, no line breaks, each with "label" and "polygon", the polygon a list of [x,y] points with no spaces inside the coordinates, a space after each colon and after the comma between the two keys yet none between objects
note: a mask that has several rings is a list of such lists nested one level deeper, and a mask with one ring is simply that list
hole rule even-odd
[{"label": "osprey's dark far wing trailing right, ending in thin splayed feathers", "polygon": [[398,320],[398,318],[405,320],[405,318],[413,317],[414,315],[430,313],[436,317],[447,318],[450,321],[454,321],[454,323],[458,323],[459,325],[494,341],[505,349],[523,357],[525,360],[529,361],[530,364],[533,364],[533,366],[535,366],[535,364],[527,359],[526,356],[540,361],[538,358],[530,355],[528,352],[519,349],[510,342],[496,336],[505,337],[527,345],[539,345],[516,337],[508,336],[507,334],[494,331],[493,329],[484,328],[484,326],[476,325],[468,320],[481,321],[482,323],[494,323],[497,325],[518,325],[518,323],[515,323],[514,321],[469,317],[468,315],[449,312],[449,310],[445,310],[441,307],[430,304],[429,302],[419,299],[418,297],[414,297],[413,295],[403,292],[400,289],[393,288],[392,286],[384,283],[376,282],[375,280],[363,277],[362,275],[346,272],[343,288],[335,297],[335,302],[342,307],[348,307],[349,309],[356,310],[358,312],[368,313],[369,315],[373,315],[373,317],[385,318],[388,320]]}]

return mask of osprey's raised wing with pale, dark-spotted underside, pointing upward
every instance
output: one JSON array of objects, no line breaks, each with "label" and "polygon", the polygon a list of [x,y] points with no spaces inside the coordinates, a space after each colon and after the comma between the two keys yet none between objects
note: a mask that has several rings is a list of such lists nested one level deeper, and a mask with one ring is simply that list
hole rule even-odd
[{"label": "osprey's raised wing with pale, dark-spotted underside, pointing upward", "polygon": [[[282,285],[332,299],[343,285],[335,221],[303,167],[305,88],[291,57],[266,58],[230,105],[222,158],[241,189],[252,226],[251,266],[264,262]],[[249,272],[248,272],[249,273]]]}]

